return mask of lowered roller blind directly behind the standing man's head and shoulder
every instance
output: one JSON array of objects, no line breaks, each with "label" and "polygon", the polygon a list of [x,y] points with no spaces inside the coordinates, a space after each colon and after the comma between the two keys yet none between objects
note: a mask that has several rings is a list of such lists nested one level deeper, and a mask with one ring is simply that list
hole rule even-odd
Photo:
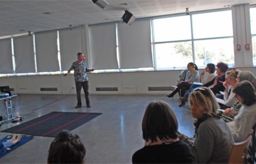
[{"label": "lowered roller blind directly behind the standing man's head and shoulder", "polygon": [[82,35],[80,28],[59,31],[61,69],[67,71],[72,62],[77,60],[77,53],[82,52]]}]

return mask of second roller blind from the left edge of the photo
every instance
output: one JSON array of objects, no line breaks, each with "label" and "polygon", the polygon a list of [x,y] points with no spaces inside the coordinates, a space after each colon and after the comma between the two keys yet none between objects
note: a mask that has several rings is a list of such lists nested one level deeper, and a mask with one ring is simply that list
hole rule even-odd
[{"label": "second roller blind from the left edge of the photo", "polygon": [[13,38],[16,73],[35,72],[33,37],[21,36]]}]

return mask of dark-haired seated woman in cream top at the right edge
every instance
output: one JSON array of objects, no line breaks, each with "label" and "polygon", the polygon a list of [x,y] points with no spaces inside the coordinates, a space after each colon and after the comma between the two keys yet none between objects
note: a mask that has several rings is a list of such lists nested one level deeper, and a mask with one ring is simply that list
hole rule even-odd
[{"label": "dark-haired seated woman in cream top at the right edge", "polygon": [[233,92],[237,101],[243,106],[234,117],[234,121],[228,122],[228,126],[235,142],[240,142],[248,137],[252,126],[256,123],[256,95],[254,87],[247,80],[237,84]]}]

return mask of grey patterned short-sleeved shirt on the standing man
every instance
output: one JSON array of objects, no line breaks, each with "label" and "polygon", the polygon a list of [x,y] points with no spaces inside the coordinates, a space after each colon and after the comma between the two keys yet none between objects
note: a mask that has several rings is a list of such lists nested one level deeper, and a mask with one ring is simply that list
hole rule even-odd
[{"label": "grey patterned short-sleeved shirt on the standing man", "polygon": [[72,63],[72,66],[69,70],[74,70],[75,82],[83,82],[88,80],[86,74],[87,66],[85,60],[81,62],[75,61],[74,63]]}]

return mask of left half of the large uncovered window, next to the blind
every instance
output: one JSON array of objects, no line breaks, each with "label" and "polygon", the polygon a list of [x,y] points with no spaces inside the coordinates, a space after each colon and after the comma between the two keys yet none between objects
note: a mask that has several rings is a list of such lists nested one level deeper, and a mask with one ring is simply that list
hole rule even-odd
[{"label": "left half of the large uncovered window, next to the blind", "polygon": [[153,38],[156,69],[186,67],[193,61],[190,16],[153,19]]}]

